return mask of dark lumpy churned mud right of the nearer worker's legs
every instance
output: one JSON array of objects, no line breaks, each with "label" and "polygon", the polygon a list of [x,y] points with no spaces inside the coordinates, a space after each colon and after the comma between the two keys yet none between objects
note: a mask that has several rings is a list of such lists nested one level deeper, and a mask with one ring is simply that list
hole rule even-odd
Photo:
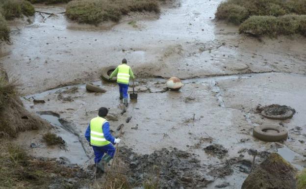
[{"label": "dark lumpy churned mud right of the nearer worker's legs", "polygon": [[121,148],[118,154],[129,165],[131,184],[146,180],[149,174],[146,170],[153,167],[159,170],[157,174],[162,189],[201,189],[212,182],[205,179],[204,167],[196,156],[185,151],[163,148],[150,155],[138,155],[132,149]]}]

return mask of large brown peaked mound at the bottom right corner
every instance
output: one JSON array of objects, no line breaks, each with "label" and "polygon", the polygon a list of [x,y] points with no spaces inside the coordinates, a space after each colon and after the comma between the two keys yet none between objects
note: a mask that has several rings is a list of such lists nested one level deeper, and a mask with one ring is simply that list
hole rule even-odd
[{"label": "large brown peaked mound at the bottom right corner", "polygon": [[248,176],[241,189],[296,189],[297,170],[277,153],[272,153]]}]

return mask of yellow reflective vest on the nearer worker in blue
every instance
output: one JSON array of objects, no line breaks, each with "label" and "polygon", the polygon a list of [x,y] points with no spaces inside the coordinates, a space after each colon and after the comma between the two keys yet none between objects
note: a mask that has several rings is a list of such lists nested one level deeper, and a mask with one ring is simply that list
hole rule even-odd
[{"label": "yellow reflective vest on the nearer worker in blue", "polygon": [[90,121],[90,144],[93,146],[105,146],[110,142],[104,138],[102,125],[107,122],[102,117],[93,118]]}]

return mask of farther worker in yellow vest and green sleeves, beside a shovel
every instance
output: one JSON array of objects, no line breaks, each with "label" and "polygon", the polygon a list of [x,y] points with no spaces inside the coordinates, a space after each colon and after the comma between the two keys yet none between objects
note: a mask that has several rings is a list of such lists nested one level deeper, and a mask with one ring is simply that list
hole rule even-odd
[{"label": "farther worker in yellow vest and green sleeves, beside a shovel", "polygon": [[122,60],[122,64],[119,65],[109,76],[109,79],[117,76],[117,83],[119,85],[120,100],[126,107],[128,107],[128,82],[129,78],[135,79],[132,69],[127,65],[127,59]]}]

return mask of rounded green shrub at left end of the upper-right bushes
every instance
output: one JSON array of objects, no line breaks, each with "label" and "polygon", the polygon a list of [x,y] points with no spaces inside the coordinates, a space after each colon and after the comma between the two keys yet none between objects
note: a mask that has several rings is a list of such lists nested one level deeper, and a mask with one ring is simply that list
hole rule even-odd
[{"label": "rounded green shrub at left end of the upper-right bushes", "polygon": [[236,4],[221,4],[216,12],[216,18],[233,24],[240,24],[249,17],[248,10]]}]

